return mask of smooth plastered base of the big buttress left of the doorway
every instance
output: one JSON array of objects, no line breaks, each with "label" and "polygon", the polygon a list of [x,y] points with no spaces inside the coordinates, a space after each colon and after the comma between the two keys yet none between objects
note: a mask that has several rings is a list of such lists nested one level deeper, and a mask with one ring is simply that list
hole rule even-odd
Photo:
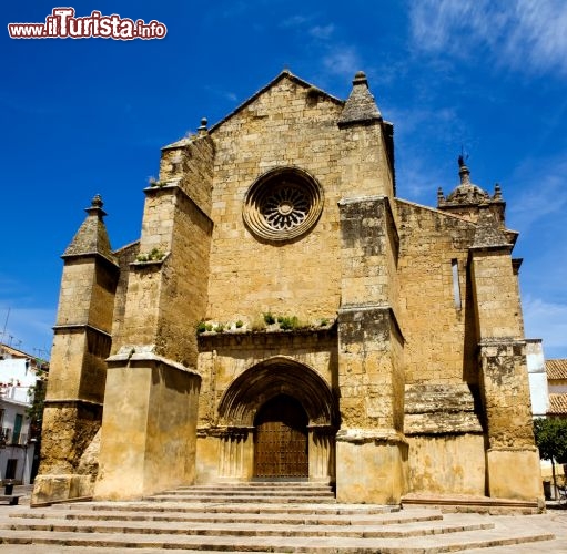
[{"label": "smooth plastered base of the big buttress left of the doorway", "polygon": [[199,377],[143,356],[109,363],[95,496],[135,499],[191,483]]}]

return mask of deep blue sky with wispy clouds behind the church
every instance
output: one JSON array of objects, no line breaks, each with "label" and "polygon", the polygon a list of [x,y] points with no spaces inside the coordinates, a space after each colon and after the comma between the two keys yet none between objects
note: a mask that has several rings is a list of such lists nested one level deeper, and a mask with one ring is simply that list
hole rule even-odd
[{"label": "deep blue sky with wispy clouds behind the church", "polygon": [[4,2],[0,38],[0,335],[51,347],[59,256],[95,193],[113,247],[139,237],[160,147],[287,68],[345,99],[364,70],[395,125],[397,192],[435,205],[472,181],[520,232],[526,335],[567,358],[567,3],[564,0],[81,1],[77,16],[156,20],[163,40],[12,40],[60,3]]}]

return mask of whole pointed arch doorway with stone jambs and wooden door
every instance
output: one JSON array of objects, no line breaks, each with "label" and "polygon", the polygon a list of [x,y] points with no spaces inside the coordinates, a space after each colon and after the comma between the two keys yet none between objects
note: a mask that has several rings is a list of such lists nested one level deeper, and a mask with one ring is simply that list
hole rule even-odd
[{"label": "whole pointed arch doorway with stone jambs and wooden door", "polygon": [[224,391],[219,417],[219,479],[335,481],[337,401],[306,365],[274,356],[249,368]]}]

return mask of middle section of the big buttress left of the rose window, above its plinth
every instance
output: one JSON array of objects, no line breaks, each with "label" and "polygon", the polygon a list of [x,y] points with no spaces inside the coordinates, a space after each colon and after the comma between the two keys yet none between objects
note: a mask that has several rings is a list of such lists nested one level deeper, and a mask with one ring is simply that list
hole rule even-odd
[{"label": "middle section of the big buttress left of the rose window, above its plinth", "polygon": [[119,348],[150,345],[161,356],[195,367],[195,326],[205,310],[212,222],[176,185],[146,188],[146,195]]}]

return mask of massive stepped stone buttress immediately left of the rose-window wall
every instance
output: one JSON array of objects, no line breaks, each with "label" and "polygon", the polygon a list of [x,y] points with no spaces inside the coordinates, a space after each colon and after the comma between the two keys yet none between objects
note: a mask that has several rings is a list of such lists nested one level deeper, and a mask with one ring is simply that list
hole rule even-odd
[{"label": "massive stepped stone buttress immediately left of the rose-window wall", "polygon": [[121,343],[108,359],[97,497],[139,497],[194,480],[194,329],[206,301],[213,154],[206,132],[165,147],[160,181],[144,189]]}]

